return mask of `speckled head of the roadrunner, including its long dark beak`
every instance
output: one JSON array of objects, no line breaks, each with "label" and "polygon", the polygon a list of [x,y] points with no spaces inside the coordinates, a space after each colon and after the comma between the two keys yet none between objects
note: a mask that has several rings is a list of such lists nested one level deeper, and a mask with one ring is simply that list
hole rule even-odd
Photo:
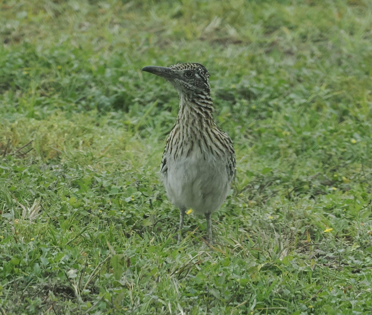
[{"label": "speckled head of the roadrunner, including its long dark beak", "polygon": [[142,71],[166,78],[180,95],[192,97],[195,94],[209,95],[209,72],[201,64],[175,64],[169,67],[147,66]]}]

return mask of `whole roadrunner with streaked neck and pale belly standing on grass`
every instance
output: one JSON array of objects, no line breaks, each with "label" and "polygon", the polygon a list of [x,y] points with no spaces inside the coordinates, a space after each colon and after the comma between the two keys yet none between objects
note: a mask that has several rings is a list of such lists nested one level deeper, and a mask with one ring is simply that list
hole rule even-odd
[{"label": "whole roadrunner with streaked neck and pale belly standing on grass", "polygon": [[205,215],[212,241],[211,212],[222,205],[230,191],[235,151],[232,140],[213,118],[209,72],[192,62],[145,66],[141,71],[168,80],[180,97],[176,123],[160,164],[167,197],[180,209],[177,243],[182,238],[185,211],[189,208]]}]

